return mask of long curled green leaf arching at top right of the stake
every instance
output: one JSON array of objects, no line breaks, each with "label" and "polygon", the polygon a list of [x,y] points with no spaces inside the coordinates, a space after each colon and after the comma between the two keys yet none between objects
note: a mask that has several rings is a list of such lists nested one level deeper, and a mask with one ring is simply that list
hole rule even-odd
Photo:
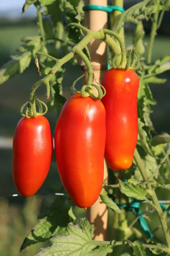
[{"label": "long curled green leaf arching at top right of the stake", "polygon": [[148,19],[152,13],[159,12],[163,9],[163,5],[159,4],[159,2],[158,0],[145,0],[130,7],[116,18],[112,30],[119,33],[125,23],[134,22],[141,15],[144,15]]}]

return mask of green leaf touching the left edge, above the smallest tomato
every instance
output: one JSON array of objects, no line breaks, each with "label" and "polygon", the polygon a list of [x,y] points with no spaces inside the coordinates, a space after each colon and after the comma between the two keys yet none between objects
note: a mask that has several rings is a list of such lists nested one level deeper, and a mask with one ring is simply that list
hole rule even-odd
[{"label": "green leaf touching the left edge, above the smallest tomato", "polygon": [[17,73],[23,73],[23,71],[29,66],[30,62],[31,52],[24,52],[21,55],[13,56],[12,60],[8,61],[0,69],[0,84],[3,84]]}]

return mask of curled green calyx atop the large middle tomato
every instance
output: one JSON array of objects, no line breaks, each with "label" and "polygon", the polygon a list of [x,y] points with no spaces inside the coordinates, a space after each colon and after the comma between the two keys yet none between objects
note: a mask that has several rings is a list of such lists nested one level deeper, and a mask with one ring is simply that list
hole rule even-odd
[{"label": "curled green calyx atop the large middle tomato", "polygon": [[[84,75],[80,76],[79,78],[77,78],[74,83],[72,84],[72,89],[76,92],[76,93],[80,93],[81,96],[83,98],[85,97],[91,97],[93,99],[96,99],[96,100],[100,100],[102,99],[103,96],[105,96],[106,94],[106,90],[105,88],[102,86],[102,84],[99,84],[98,82],[96,82],[98,85],[96,84],[92,84],[92,83],[89,83],[87,82],[87,84],[83,85],[81,90],[78,91],[75,89],[75,84],[77,83],[77,81],[79,79],[81,79]],[[96,88],[97,92],[95,93],[94,92],[94,88]]]}]

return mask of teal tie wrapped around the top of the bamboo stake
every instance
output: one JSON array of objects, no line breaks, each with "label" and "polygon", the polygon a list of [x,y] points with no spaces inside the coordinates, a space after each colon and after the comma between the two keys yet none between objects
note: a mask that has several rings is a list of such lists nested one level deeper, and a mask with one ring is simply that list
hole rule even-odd
[{"label": "teal tie wrapped around the top of the bamboo stake", "polygon": [[93,4],[88,4],[86,6],[83,6],[83,11],[88,10],[96,10],[96,11],[103,11],[103,12],[113,12],[113,11],[120,11],[125,12],[125,9],[122,6],[98,6]]}]

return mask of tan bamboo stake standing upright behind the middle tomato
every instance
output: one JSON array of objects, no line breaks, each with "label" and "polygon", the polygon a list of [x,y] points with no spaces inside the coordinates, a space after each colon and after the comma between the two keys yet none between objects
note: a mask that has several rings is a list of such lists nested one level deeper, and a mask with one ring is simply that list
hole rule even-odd
[{"label": "tan bamboo stake standing upright behind the middle tomato", "polygon": [[[107,6],[107,0],[85,0],[85,5],[101,5]],[[107,12],[103,11],[85,11],[84,26],[88,27],[92,31],[98,31],[102,28],[107,28]],[[91,55],[91,64],[93,66],[94,75],[93,83],[96,81],[101,83],[102,76],[107,70],[107,51],[106,44],[100,40],[93,40],[88,45],[88,49]],[[87,71],[85,64],[80,61],[82,72],[85,73],[83,83],[86,83]],[[108,169],[104,161],[104,181],[108,180]],[[90,223],[96,226],[94,230],[94,239],[98,241],[107,240],[107,225],[108,225],[108,208],[101,200],[97,200],[96,203],[87,210],[87,218]]]}]

